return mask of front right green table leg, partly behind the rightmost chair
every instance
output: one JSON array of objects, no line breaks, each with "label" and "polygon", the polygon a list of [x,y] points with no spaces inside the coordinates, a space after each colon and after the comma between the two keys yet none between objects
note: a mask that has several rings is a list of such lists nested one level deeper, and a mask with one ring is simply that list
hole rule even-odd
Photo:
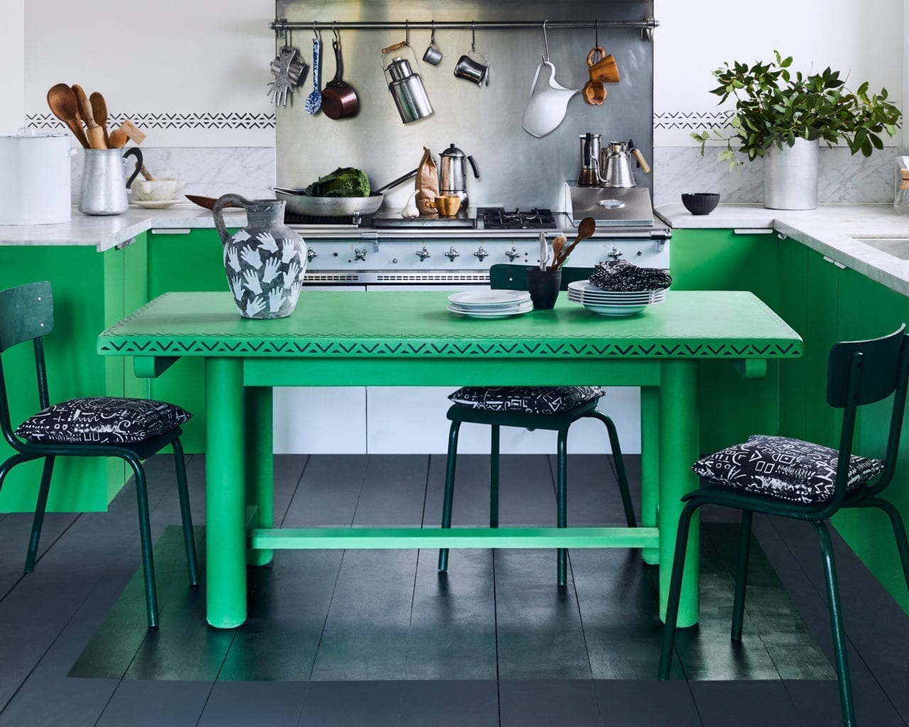
[{"label": "front right green table leg, partly behind the rightmost chair", "polygon": [[[660,618],[665,620],[672,577],[675,532],[682,513],[682,495],[697,488],[691,465],[698,457],[697,362],[664,361],[660,386]],[[692,519],[678,627],[693,626],[698,608],[699,537]]]}]

